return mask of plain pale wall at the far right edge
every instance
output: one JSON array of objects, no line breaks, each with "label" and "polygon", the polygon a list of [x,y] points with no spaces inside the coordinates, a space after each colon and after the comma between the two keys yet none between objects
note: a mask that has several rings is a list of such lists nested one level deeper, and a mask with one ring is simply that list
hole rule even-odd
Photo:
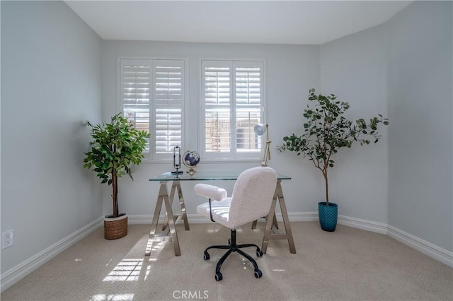
[{"label": "plain pale wall at the far right edge", "polygon": [[388,23],[389,225],[453,251],[452,1]]}]

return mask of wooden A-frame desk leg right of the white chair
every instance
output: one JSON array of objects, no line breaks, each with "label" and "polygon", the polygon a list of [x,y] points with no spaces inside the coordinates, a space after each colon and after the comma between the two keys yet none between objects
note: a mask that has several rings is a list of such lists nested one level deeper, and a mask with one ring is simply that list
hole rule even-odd
[{"label": "wooden A-frame desk leg right of the white chair", "polygon": [[[285,225],[285,233],[273,232],[273,220],[275,218],[275,206],[277,205],[277,199],[280,203],[280,209],[282,210],[283,224]],[[265,254],[268,251],[269,240],[288,240],[289,252],[292,254],[296,253],[296,247],[294,246],[294,239],[292,238],[291,225],[289,225],[288,211],[285,205],[285,199],[283,198],[281,180],[277,180],[277,187],[275,187],[274,198],[272,205],[270,206],[269,216],[266,221],[266,228],[264,231],[263,244],[261,251]]]}]

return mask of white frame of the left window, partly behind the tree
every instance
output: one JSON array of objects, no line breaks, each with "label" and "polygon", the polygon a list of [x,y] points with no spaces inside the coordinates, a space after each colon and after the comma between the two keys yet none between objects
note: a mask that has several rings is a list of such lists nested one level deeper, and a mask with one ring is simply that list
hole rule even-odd
[{"label": "white frame of the left window, partly behind the tree", "polygon": [[[155,104],[154,104],[154,93],[156,88],[156,78],[155,78],[155,69],[156,69],[156,61],[180,61],[182,64],[182,80],[181,80],[181,89],[182,89],[182,97],[181,100],[181,145],[180,149],[185,150],[185,146],[188,145],[188,125],[186,124],[188,112],[186,111],[187,102],[188,102],[188,95],[189,95],[189,85],[188,85],[188,76],[189,76],[189,65],[188,65],[188,57],[142,57],[142,56],[119,56],[117,57],[117,64],[116,64],[116,72],[117,72],[117,111],[122,112],[123,110],[123,102],[122,102],[122,60],[130,59],[130,60],[147,60],[150,61],[150,100],[149,100],[149,132],[151,133],[151,138],[149,141],[149,151],[144,152],[144,159],[142,160],[143,163],[166,163],[168,164],[169,161],[173,162],[173,152],[169,153],[156,153],[156,128],[152,129],[152,126],[156,124],[156,115],[155,115]],[[182,153],[181,153],[182,155]]]}]

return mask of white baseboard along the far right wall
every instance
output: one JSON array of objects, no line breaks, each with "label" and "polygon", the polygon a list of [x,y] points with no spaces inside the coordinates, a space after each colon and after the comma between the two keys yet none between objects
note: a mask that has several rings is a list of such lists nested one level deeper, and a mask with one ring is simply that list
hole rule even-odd
[{"label": "white baseboard along the far right wall", "polygon": [[412,247],[425,255],[428,255],[438,261],[442,262],[443,264],[447,264],[447,266],[453,267],[453,252],[449,252],[446,249],[441,247],[437,247],[435,244],[422,240],[414,235],[401,231],[397,228],[394,228],[391,225],[387,225],[388,228],[388,235],[398,242],[402,242],[403,244]]}]

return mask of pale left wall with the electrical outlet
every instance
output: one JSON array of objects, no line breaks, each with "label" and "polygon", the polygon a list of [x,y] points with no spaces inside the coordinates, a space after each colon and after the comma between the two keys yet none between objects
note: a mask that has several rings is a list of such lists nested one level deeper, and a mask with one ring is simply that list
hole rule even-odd
[{"label": "pale left wall with the electrical outlet", "polygon": [[101,39],[62,1],[1,1],[1,275],[102,215],[83,170],[101,120]]}]

